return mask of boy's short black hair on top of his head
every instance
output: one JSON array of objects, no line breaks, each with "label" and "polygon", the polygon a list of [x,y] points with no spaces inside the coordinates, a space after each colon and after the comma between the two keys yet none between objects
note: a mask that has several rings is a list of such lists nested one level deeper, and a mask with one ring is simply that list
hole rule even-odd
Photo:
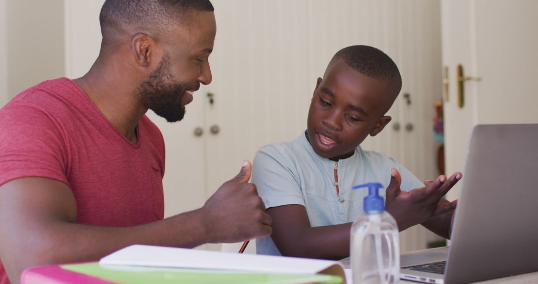
[{"label": "boy's short black hair on top of his head", "polygon": [[386,80],[394,96],[400,93],[402,77],[396,63],[383,51],[366,45],[353,45],[340,49],[331,61],[342,59],[351,68],[373,79]]}]

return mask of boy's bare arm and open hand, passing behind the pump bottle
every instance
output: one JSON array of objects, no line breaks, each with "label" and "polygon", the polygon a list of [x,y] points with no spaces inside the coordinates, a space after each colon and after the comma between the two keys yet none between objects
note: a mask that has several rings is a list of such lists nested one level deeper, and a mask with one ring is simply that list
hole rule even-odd
[{"label": "boy's bare arm and open hand, passing behind the pump bottle", "polygon": [[[449,216],[456,202],[440,204],[440,199],[459,179],[461,173],[448,179],[439,176],[427,186],[407,192],[400,190],[401,176],[393,169],[386,191],[386,210],[396,219],[400,231],[422,223],[435,233],[448,236]],[[273,219],[271,237],[282,255],[323,259],[349,257],[352,223],[310,228],[302,205],[272,207],[267,213]]]}]

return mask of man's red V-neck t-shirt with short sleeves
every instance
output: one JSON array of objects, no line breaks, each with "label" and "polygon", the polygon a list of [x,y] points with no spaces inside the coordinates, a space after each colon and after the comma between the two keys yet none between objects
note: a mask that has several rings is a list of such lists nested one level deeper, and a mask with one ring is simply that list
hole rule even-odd
[{"label": "man's red V-neck t-shirt with short sleeves", "polygon": [[162,219],[164,140],[146,116],[136,128],[138,143],[132,144],[73,81],[42,82],[0,109],[0,185],[28,176],[64,182],[75,196],[80,224]]}]

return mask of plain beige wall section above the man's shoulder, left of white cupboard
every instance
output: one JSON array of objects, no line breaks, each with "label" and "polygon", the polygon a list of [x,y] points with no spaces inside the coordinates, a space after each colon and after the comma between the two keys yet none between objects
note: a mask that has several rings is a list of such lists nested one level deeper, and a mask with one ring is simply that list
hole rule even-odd
[{"label": "plain beige wall section above the man's shoulder, left of white cupboard", "polygon": [[63,1],[2,1],[7,14],[2,19],[7,20],[8,96],[64,76]]}]

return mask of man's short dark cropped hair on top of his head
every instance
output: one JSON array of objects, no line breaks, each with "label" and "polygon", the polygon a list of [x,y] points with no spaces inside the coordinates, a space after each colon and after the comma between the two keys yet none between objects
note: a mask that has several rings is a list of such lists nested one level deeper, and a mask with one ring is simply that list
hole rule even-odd
[{"label": "man's short dark cropped hair on top of his head", "polygon": [[213,12],[214,8],[209,0],[106,0],[99,16],[103,43],[133,30],[159,37],[190,11]]}]

